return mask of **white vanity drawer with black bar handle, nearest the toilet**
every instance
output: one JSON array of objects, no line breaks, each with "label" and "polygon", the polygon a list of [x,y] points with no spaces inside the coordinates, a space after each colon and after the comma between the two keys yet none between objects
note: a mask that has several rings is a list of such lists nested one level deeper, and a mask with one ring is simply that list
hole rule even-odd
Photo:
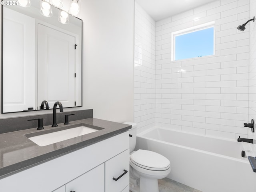
[{"label": "white vanity drawer with black bar handle, nearest the toilet", "polygon": [[129,149],[106,161],[105,192],[120,192],[126,188],[129,184],[129,168]]}]

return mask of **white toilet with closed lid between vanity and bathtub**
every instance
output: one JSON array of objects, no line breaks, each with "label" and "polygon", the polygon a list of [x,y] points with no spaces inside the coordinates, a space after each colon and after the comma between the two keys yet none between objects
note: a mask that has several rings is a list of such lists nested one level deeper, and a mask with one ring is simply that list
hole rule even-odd
[{"label": "white toilet with closed lid between vanity and bathtub", "polygon": [[170,161],[164,156],[149,150],[134,151],[136,145],[137,124],[132,125],[130,134],[130,191],[159,192],[158,179],[165,178],[171,171]]}]

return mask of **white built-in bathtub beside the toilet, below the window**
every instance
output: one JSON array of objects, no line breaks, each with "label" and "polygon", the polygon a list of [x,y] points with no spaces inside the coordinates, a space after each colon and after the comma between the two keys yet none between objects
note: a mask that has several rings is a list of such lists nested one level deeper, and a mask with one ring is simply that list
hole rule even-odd
[{"label": "white built-in bathtub beside the toilet, below the window", "polygon": [[155,127],[137,135],[137,149],[162,154],[171,163],[168,178],[202,192],[256,192],[240,142]]}]

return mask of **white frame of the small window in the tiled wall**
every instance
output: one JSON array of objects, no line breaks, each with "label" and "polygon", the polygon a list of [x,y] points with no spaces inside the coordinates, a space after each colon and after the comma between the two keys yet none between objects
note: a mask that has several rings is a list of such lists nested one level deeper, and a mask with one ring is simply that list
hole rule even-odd
[{"label": "white frame of the small window in the tiled wall", "polygon": [[[197,26],[193,26],[193,27],[190,27],[190,28],[186,28],[186,29],[182,29],[182,30],[172,32],[172,34],[171,34],[171,36],[172,36],[171,60],[172,61],[177,61],[175,59],[175,37],[176,36],[196,32],[196,31],[200,31],[200,30],[204,30],[204,29],[208,29],[208,28],[212,28],[212,27],[213,27],[213,54],[212,55],[206,55],[206,56],[215,55],[215,21],[212,21],[212,22],[208,22],[208,23],[204,23],[204,24],[201,24],[201,25],[197,25]],[[205,57],[205,56],[202,56],[202,57]],[[192,57],[192,58],[197,58],[197,57]],[[192,58],[184,58],[184,59],[192,59]],[[179,59],[179,60],[184,60],[184,59]]]}]

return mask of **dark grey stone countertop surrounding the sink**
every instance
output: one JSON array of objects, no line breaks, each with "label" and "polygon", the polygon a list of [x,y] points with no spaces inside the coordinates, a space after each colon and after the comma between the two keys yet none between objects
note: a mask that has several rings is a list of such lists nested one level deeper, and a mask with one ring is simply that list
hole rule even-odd
[{"label": "dark grey stone countertop surrounding the sink", "polygon": [[[68,126],[72,128],[75,124],[81,123],[91,128],[103,129],[47,146],[38,146],[26,137],[27,134],[35,136],[39,133],[44,134],[43,132],[55,132],[56,130],[66,129]],[[126,124],[88,118],[72,121],[69,125],[61,123],[55,128],[49,125],[44,126],[43,130],[31,128],[0,134],[0,179],[74,150],[100,142],[125,132],[130,128],[131,126]]]}]

